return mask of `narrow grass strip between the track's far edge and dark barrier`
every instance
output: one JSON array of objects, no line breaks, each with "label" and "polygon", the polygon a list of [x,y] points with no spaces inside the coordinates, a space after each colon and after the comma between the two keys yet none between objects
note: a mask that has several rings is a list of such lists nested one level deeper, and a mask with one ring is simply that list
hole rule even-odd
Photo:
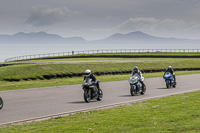
[{"label": "narrow grass strip between the track's far edge and dark barrier", "polygon": [[[198,73],[200,73],[200,71],[182,71],[182,72],[176,72],[176,75],[188,75],[188,74],[198,74]],[[131,74],[102,75],[102,76],[96,76],[96,77],[101,82],[109,82],[109,81],[128,80],[130,78],[130,75]],[[143,74],[143,76],[145,78],[162,77],[163,72],[145,73]],[[82,84],[82,82],[83,82],[83,77],[52,79],[52,80],[32,80],[32,81],[21,81],[21,82],[0,81],[0,91],[73,85],[73,84]]]}]

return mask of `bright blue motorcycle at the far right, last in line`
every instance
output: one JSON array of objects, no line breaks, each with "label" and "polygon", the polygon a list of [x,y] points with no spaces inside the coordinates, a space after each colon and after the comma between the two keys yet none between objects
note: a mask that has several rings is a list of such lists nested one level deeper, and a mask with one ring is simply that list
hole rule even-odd
[{"label": "bright blue motorcycle at the far right, last in line", "polygon": [[173,75],[171,73],[169,72],[165,73],[163,78],[165,79],[167,88],[171,88],[172,86],[173,88],[176,87],[176,82],[174,81]]}]

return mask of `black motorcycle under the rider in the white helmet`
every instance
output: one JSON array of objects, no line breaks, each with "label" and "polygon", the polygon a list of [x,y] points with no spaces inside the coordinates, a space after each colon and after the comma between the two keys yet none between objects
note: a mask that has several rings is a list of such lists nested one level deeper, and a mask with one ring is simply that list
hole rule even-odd
[{"label": "black motorcycle under the rider in the white helmet", "polygon": [[83,81],[82,88],[84,90],[83,96],[84,96],[85,102],[89,103],[90,100],[92,99],[97,99],[97,101],[102,100],[103,91],[100,88],[97,89],[96,84],[89,78],[89,76],[86,76],[85,80]]}]

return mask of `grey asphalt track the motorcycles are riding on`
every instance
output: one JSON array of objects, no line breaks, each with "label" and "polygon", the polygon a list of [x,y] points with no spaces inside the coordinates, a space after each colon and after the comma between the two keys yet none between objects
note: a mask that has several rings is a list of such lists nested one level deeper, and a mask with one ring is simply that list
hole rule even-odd
[{"label": "grey asphalt track the motorcycles are riding on", "polygon": [[1,91],[0,125],[200,90],[199,81],[200,74],[177,76],[177,87],[167,89],[163,78],[148,78],[147,92],[140,96],[131,96],[128,79],[102,82],[103,100],[90,103],[85,103],[80,84]]}]

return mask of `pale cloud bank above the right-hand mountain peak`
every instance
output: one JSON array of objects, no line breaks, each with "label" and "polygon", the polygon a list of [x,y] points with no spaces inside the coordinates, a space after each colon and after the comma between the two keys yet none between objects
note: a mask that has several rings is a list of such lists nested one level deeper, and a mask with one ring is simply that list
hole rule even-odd
[{"label": "pale cloud bank above the right-hand mountain peak", "polygon": [[[178,19],[157,19],[157,18],[129,18],[121,24],[111,28],[94,29],[95,32],[120,32],[128,33],[133,31],[142,31],[148,34],[158,36],[179,36],[183,37],[193,33],[194,29],[199,30],[199,23],[186,22]],[[197,30],[196,30],[197,32]]]}]

